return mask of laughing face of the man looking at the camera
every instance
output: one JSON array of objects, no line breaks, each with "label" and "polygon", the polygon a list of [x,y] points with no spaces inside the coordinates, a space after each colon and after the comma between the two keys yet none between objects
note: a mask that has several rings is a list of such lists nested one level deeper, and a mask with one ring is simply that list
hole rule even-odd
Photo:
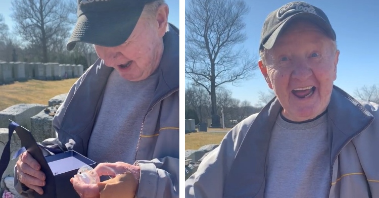
[{"label": "laughing face of the man looking at the camera", "polygon": [[322,30],[311,23],[290,24],[266,54],[259,67],[268,86],[292,121],[313,119],[325,111],[340,52]]}]

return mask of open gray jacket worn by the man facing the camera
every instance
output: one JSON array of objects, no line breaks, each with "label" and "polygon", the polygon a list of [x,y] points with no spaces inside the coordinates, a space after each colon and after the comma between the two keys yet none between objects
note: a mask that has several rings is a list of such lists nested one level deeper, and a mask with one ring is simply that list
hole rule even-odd
[{"label": "open gray jacket worn by the man facing the camera", "polygon": [[[231,129],[185,181],[185,197],[263,197],[268,144],[280,109],[274,98]],[[379,105],[357,102],[334,86],[327,112],[328,197],[379,197]]]}]

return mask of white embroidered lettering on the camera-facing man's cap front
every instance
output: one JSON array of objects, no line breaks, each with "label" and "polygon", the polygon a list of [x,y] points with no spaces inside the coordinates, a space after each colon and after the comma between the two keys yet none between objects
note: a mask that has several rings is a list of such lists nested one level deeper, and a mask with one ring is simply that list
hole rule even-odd
[{"label": "white embroidered lettering on the camera-facing man's cap front", "polygon": [[308,12],[317,15],[313,6],[305,2],[292,2],[282,6],[276,13],[276,17],[280,20],[288,15],[293,15],[299,12]]}]

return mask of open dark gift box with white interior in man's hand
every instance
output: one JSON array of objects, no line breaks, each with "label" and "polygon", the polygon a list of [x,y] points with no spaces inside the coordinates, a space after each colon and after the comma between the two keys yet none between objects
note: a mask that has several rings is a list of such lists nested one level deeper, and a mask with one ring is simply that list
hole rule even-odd
[{"label": "open dark gift box with white interior in man's hand", "polygon": [[70,178],[77,174],[80,167],[88,165],[96,167],[96,162],[80,155],[75,151],[66,151],[52,156],[44,157],[34,137],[22,126],[15,128],[20,137],[22,146],[41,165],[41,171],[45,173],[45,185],[42,186],[43,194],[33,192],[34,197],[80,197],[75,191]]}]

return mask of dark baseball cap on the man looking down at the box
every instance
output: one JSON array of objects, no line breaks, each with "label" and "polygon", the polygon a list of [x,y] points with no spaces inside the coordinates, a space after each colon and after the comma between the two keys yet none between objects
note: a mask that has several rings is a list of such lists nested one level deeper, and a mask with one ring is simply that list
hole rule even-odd
[{"label": "dark baseball cap on the man looking down at the box", "polygon": [[78,0],[78,20],[66,45],[76,42],[118,46],[133,31],[146,4],[156,0]]}]

